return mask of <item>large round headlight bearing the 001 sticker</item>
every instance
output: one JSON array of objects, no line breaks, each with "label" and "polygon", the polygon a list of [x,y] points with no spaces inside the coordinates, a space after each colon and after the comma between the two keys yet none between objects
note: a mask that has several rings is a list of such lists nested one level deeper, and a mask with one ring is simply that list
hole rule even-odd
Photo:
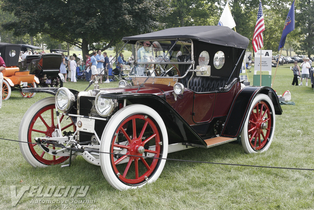
[{"label": "large round headlight bearing the 001 sticker", "polygon": [[112,99],[107,99],[102,96],[100,92],[95,99],[95,108],[100,116],[107,117],[112,114],[113,110],[116,108],[116,104]]}]

